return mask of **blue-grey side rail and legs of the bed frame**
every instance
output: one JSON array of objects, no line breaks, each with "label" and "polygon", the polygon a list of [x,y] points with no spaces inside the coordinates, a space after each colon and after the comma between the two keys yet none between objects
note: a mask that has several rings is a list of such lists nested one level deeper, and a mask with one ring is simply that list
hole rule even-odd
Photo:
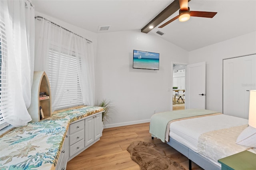
[{"label": "blue-grey side rail and legs of the bed frame", "polygon": [[[154,137],[152,137],[152,139],[154,139]],[[174,140],[173,138],[169,137],[169,142],[166,143],[188,158],[189,170],[192,170],[191,161],[195,162],[198,166],[205,170],[221,170],[220,166],[214,164],[210,160],[204,158],[200,154],[194,152],[193,150],[181,144],[180,142]]]}]

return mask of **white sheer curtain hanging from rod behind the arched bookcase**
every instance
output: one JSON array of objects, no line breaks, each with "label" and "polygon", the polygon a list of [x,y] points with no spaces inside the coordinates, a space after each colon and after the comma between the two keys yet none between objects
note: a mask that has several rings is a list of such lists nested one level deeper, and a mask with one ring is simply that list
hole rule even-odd
[{"label": "white sheer curtain hanging from rod behind the arched bookcase", "polygon": [[[35,68],[43,68],[48,75],[52,94],[52,111],[60,109],[60,104],[65,103],[63,102],[64,97],[70,90],[68,88],[71,88],[67,87],[67,81],[70,79],[70,72],[74,71],[77,71],[76,77],[71,77],[71,79],[79,81],[78,84],[82,89],[82,104],[94,105],[92,42],[88,42],[44,18],[36,19],[36,28],[40,30],[40,33],[38,44],[36,44]],[[76,65],[80,66],[77,67],[77,70],[74,70],[74,63],[72,63],[74,57]],[[71,101],[73,97],[70,97],[69,100]],[[72,107],[72,105],[66,104],[66,107]]]}]

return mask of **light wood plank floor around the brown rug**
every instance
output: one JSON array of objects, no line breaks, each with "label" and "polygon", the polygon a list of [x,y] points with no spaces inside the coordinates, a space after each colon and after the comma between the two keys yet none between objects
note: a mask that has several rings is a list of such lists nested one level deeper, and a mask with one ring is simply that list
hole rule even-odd
[{"label": "light wood plank floor around the brown rug", "polygon": [[[68,162],[67,170],[140,170],[126,150],[135,140],[154,143],[188,170],[188,158],[160,139],[151,139],[149,123],[104,129],[98,142]],[[192,169],[202,170],[193,162]]]}]

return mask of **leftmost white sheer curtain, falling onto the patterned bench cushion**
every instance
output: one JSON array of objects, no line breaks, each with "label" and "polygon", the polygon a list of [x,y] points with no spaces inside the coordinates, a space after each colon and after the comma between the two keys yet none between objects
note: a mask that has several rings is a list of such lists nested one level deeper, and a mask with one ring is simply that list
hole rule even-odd
[{"label": "leftmost white sheer curtain, falling onto the patterned bench cushion", "polygon": [[7,123],[24,126],[32,120],[27,108],[34,73],[34,7],[28,0],[1,0],[1,22],[6,38],[1,43],[7,48],[1,56],[0,110]]}]

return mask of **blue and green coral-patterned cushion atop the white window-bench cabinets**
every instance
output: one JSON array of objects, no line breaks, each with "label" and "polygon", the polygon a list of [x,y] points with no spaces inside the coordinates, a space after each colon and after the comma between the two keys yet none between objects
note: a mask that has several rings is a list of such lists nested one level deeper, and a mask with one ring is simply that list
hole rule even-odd
[{"label": "blue and green coral-patterned cushion atop the white window-bench cabinets", "polygon": [[0,170],[54,170],[70,123],[103,110],[85,106],[14,128],[0,138]]}]

